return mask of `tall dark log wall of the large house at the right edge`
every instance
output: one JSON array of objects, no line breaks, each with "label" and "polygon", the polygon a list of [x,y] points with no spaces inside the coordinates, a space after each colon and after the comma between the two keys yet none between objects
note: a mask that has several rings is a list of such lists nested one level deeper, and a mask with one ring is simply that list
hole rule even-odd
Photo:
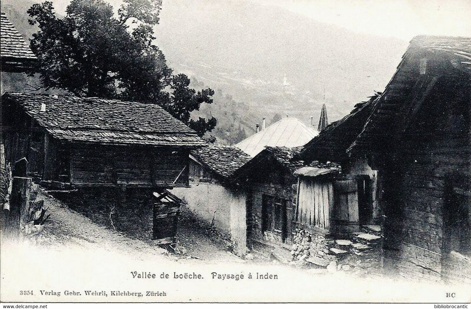
[{"label": "tall dark log wall of the large house at the right edge", "polygon": [[[444,223],[444,215],[450,211],[447,186],[461,186],[458,190],[468,194],[468,201],[462,204],[464,227],[455,233],[471,243],[469,85],[469,76],[459,73],[436,79],[422,108],[405,128],[395,155],[379,172],[386,215],[385,266],[403,277],[439,280],[453,266],[448,263],[449,249],[444,247],[450,237]],[[453,185],[452,179],[462,181]],[[466,222],[467,233],[463,232]],[[467,263],[458,262],[467,264],[468,273],[470,254],[464,253]],[[466,268],[462,266],[463,274]]]}]

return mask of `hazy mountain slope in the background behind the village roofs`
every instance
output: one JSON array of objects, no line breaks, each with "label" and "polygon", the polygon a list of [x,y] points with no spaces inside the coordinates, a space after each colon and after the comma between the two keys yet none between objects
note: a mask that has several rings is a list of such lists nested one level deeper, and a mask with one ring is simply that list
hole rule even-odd
[{"label": "hazy mountain slope in the background behind the village roofs", "polygon": [[[25,37],[36,31],[27,23],[32,3],[1,1]],[[244,0],[164,0],[155,29],[170,66],[216,91],[195,116],[217,117],[224,143],[252,134],[262,116],[317,122],[323,102],[329,120],[339,119],[384,88],[407,46]]]}]

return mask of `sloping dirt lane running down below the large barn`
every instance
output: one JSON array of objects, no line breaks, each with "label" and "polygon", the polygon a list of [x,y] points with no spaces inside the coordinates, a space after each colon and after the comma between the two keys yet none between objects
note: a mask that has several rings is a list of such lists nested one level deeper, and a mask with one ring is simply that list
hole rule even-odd
[{"label": "sloping dirt lane running down below the large barn", "polygon": [[[186,255],[172,255],[167,250],[152,243],[152,240],[131,238],[124,233],[100,226],[89,218],[66,207],[64,203],[38,188],[38,198],[44,200],[49,217],[44,231],[30,241],[41,247],[82,247],[119,251],[138,259],[181,260],[188,256],[201,262],[244,262],[236,255],[227,252],[226,248],[214,243],[203,230],[190,224],[180,224],[178,237],[180,245],[187,249]],[[183,261],[182,261],[183,262]]]}]

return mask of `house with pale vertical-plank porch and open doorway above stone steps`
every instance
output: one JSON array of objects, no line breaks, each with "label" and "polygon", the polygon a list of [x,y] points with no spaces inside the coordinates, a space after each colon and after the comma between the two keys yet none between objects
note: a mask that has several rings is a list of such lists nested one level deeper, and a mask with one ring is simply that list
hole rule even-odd
[{"label": "house with pale vertical-plank porch and open doorway above stone steps", "polygon": [[[295,172],[299,177],[297,226],[336,234],[359,232],[361,225],[381,224],[376,172],[364,157],[347,154],[377,100],[375,95],[358,103],[349,115],[325,127],[301,150],[298,158],[305,166]],[[328,162],[337,162],[341,169]]]}]

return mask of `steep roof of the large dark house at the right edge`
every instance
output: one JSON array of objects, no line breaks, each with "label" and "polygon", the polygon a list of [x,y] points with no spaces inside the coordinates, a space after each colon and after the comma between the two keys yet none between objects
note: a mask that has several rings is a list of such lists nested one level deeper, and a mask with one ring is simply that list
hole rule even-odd
[{"label": "steep roof of the large dark house at the right edge", "polygon": [[457,72],[467,76],[464,78],[471,77],[471,38],[417,36],[412,39],[373,113],[348,148],[349,154],[365,154],[389,145],[391,138],[398,136],[398,128],[405,128],[417,112],[414,103],[425,99],[438,77]]}]

